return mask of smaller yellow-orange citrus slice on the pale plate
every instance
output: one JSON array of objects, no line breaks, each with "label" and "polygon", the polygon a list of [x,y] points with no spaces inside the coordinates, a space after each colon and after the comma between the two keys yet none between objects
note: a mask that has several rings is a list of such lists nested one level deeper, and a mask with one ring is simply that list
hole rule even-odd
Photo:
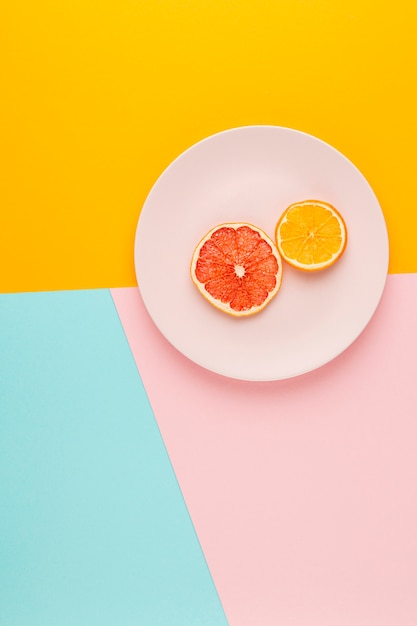
[{"label": "smaller yellow-orange citrus slice on the pale plate", "polygon": [[343,254],[347,230],[343,217],[328,202],[304,200],[291,204],[275,229],[278,250],[298,269],[315,271],[333,265]]}]

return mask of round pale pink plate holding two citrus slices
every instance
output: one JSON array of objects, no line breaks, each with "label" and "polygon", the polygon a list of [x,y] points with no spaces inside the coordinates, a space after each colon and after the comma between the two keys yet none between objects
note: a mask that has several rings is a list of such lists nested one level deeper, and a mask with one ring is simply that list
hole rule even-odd
[{"label": "round pale pink plate holding two citrus slices", "polygon": [[[331,268],[284,265],[278,295],[235,319],[210,305],[190,278],[201,237],[222,222],[249,222],[272,238],[297,200],[330,202],[348,245]],[[140,293],[166,339],[199,365],[232,378],[278,380],[339,355],[364,330],[388,271],[384,217],[371,187],[333,147],[276,126],[231,129],[200,141],[163,172],[143,206],[135,240]]]}]

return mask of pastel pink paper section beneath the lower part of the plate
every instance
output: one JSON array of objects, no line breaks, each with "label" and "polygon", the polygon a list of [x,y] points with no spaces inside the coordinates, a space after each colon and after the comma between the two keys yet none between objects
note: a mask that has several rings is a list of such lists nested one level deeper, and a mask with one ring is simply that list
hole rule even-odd
[{"label": "pastel pink paper section beneath the lower part of the plate", "polygon": [[416,626],[417,274],[341,356],[223,378],[113,289],[231,626]]}]

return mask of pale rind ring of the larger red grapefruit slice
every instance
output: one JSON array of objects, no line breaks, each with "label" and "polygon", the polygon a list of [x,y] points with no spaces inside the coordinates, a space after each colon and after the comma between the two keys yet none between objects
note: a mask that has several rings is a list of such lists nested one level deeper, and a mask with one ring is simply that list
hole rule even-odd
[{"label": "pale rind ring of the larger red grapefruit slice", "polygon": [[[252,230],[254,230],[257,233],[259,233],[260,236],[262,237],[262,239],[264,239],[270,245],[272,253],[273,253],[273,255],[275,256],[275,258],[277,260],[278,271],[275,274],[275,279],[276,279],[275,287],[268,293],[268,296],[265,298],[265,300],[264,300],[264,302],[262,302],[262,304],[260,304],[258,306],[252,306],[250,309],[246,309],[246,310],[242,310],[242,311],[236,311],[236,310],[232,309],[232,307],[230,306],[230,304],[228,302],[222,302],[221,300],[219,300],[217,298],[214,298],[205,289],[205,284],[200,282],[198,280],[197,276],[196,276],[196,265],[197,265],[197,261],[198,261],[199,256],[200,256],[201,248],[206,243],[206,241],[208,241],[217,230],[220,230],[221,228],[233,228],[233,229],[237,230],[238,228],[240,228],[242,226],[246,226],[248,228],[251,228]],[[215,226],[214,228],[209,230],[208,233],[206,235],[204,235],[204,237],[197,244],[197,246],[196,246],[196,248],[194,250],[194,254],[192,256],[192,259],[191,259],[190,270],[191,270],[191,278],[192,278],[192,281],[193,281],[194,285],[197,287],[197,289],[200,292],[200,294],[210,304],[212,304],[215,308],[219,309],[220,311],[223,311],[223,313],[227,313],[228,315],[231,315],[233,317],[248,317],[248,316],[255,315],[256,313],[259,313],[260,311],[262,311],[271,302],[271,300],[276,296],[276,294],[278,293],[278,291],[279,291],[279,289],[281,287],[281,283],[282,283],[282,268],[283,268],[283,263],[282,263],[282,259],[280,257],[279,252],[278,252],[276,244],[274,243],[274,241],[262,229],[258,228],[257,226],[254,226],[253,224],[250,224],[248,222],[225,222],[223,224],[218,224],[217,226]]]}]

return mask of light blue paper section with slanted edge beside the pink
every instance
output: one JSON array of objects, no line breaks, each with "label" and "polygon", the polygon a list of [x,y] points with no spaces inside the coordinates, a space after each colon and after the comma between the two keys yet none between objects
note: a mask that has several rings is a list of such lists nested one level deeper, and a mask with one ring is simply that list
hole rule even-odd
[{"label": "light blue paper section with slanted edge beside the pink", "polygon": [[0,624],[226,624],[107,290],[0,296]]}]

